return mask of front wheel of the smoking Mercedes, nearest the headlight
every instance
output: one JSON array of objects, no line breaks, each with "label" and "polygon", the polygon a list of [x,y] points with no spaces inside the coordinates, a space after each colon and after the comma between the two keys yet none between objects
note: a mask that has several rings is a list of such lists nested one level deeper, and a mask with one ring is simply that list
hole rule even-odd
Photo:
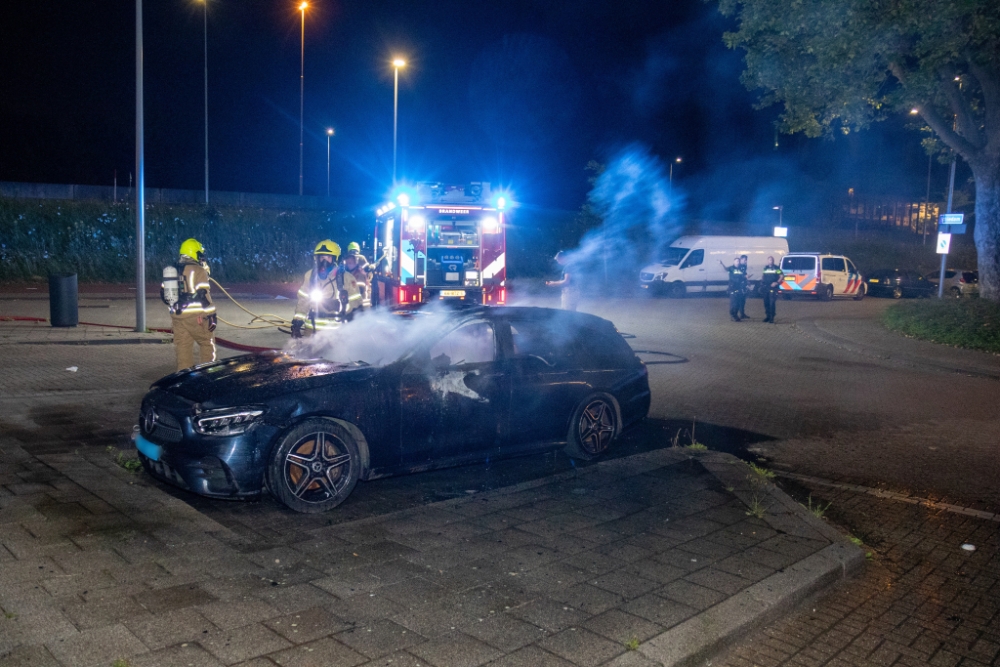
[{"label": "front wheel of the smoking Mercedes, nearest the headlight", "polygon": [[310,419],[288,431],[271,452],[267,486],[296,512],[315,514],[344,502],[360,474],[361,456],[348,430]]}]

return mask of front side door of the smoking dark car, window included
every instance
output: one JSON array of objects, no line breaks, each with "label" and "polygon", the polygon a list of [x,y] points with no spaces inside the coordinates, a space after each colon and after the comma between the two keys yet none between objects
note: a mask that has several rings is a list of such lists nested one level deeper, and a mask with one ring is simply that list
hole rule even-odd
[{"label": "front side door of the smoking dark car, window included", "polygon": [[499,449],[506,438],[511,384],[497,339],[492,323],[467,322],[407,362],[400,381],[404,465]]}]

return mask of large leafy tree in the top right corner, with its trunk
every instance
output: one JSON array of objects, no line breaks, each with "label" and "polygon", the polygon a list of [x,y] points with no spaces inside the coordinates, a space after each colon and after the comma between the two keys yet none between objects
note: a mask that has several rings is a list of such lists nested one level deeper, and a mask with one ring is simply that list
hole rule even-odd
[{"label": "large leafy tree in the top right corner, with its trunk", "polygon": [[976,184],[982,296],[1000,301],[1000,1],[719,0],[743,83],[780,129],[849,133],[916,109]]}]

